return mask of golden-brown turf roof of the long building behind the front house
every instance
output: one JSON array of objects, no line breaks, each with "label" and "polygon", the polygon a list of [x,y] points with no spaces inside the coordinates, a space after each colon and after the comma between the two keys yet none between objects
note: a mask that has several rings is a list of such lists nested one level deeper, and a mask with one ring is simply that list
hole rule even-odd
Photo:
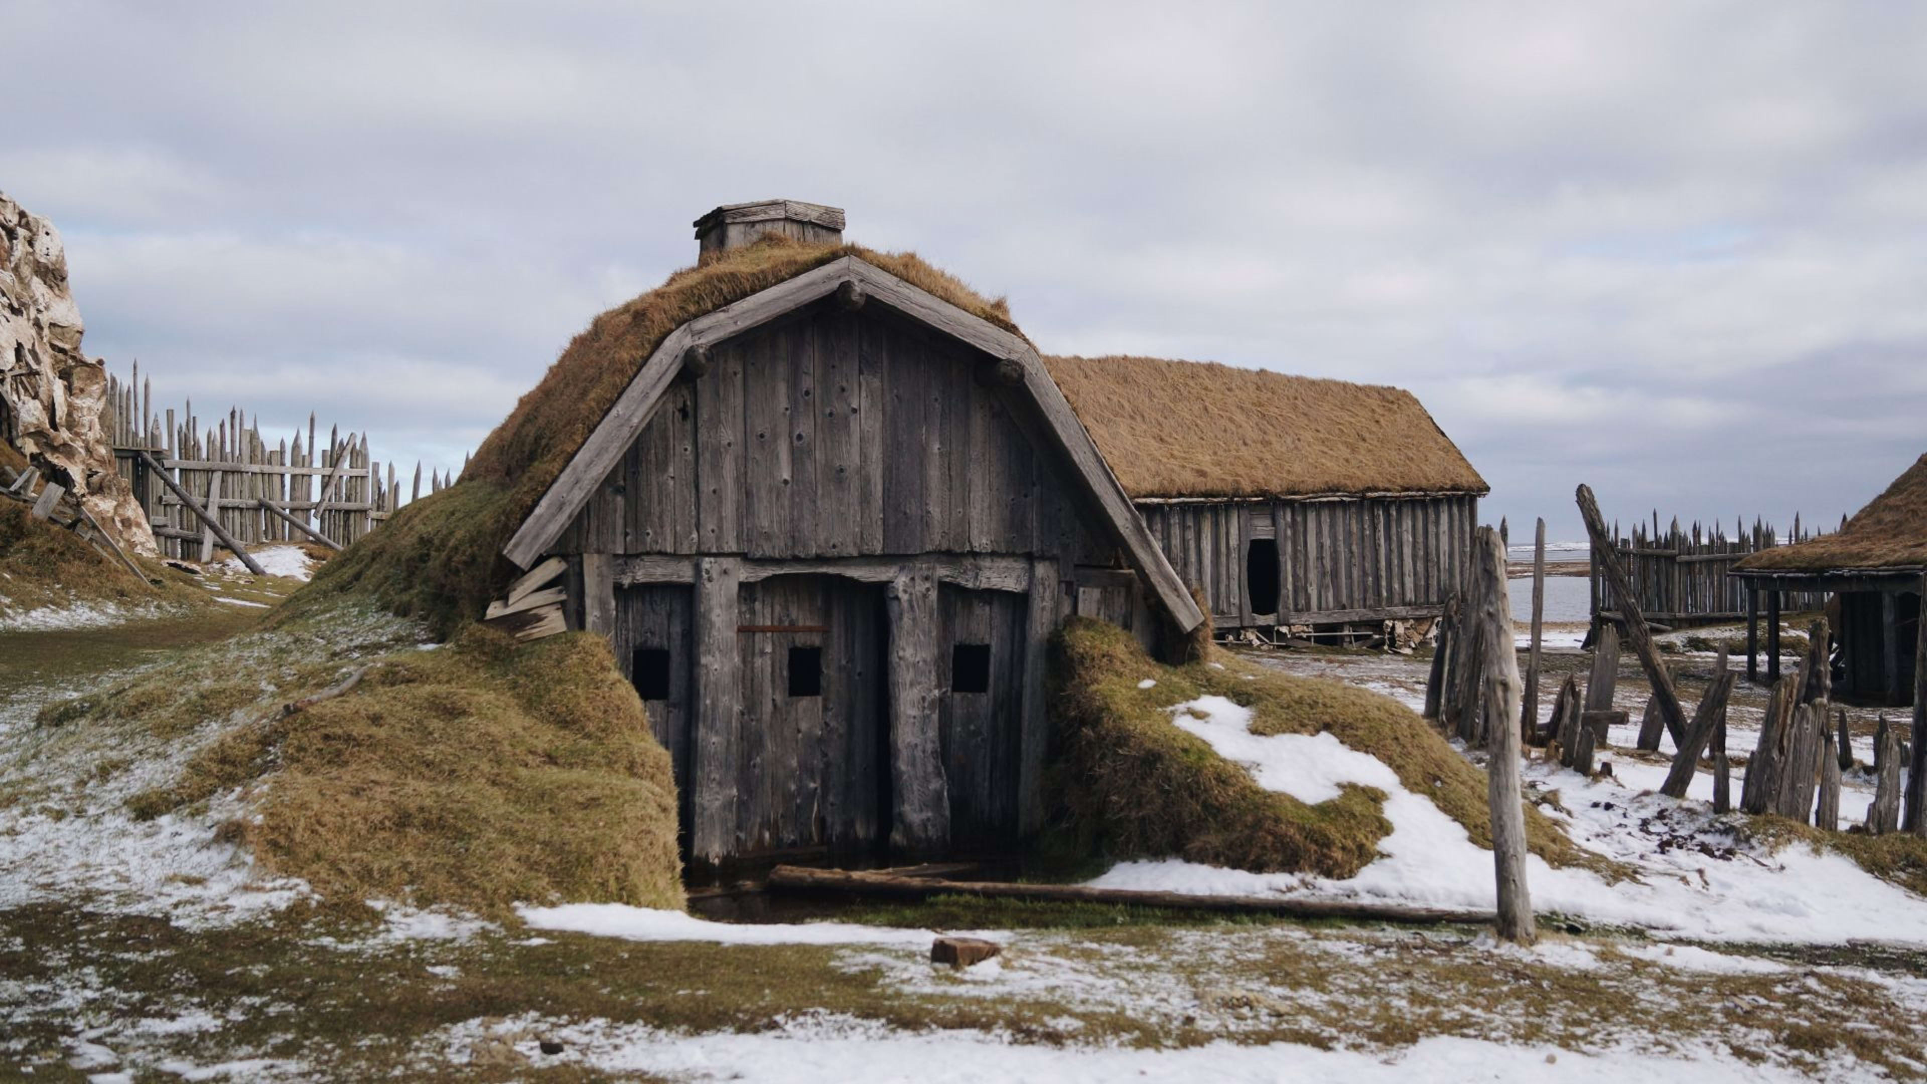
[{"label": "golden-brown turf roof of the long building behind the front house", "polygon": [[1488,490],[1401,388],[1156,357],[1044,365],[1131,498]]}]

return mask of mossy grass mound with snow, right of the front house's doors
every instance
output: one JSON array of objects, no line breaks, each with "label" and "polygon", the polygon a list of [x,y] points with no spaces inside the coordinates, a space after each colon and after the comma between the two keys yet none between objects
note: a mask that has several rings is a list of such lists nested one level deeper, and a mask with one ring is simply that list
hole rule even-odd
[{"label": "mossy grass mound with snow, right of the front house's doors", "polygon": [[[1486,775],[1389,696],[1264,671],[1222,652],[1166,667],[1129,633],[1089,619],[1064,625],[1052,640],[1052,662],[1062,741],[1052,800],[1079,849],[1328,878],[1351,878],[1378,856],[1378,841],[1391,831],[1382,791],[1347,785],[1337,799],[1305,804],[1258,787],[1245,768],[1172,723],[1172,704],[1202,694],[1251,708],[1253,733],[1330,731],[1345,746],[1384,760],[1409,791],[1463,824],[1474,843],[1491,847]],[[1147,677],[1156,685],[1139,689]],[[1526,810],[1526,839],[1553,866],[1624,876],[1572,845],[1534,808]]]}]

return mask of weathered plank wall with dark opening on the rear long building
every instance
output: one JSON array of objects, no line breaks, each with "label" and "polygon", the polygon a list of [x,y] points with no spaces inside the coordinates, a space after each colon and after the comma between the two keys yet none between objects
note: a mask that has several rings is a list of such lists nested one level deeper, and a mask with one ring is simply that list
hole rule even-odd
[{"label": "weathered plank wall with dark opening on the rear long building", "polygon": [[1212,625],[1264,629],[1434,617],[1463,590],[1478,494],[1141,501]]}]

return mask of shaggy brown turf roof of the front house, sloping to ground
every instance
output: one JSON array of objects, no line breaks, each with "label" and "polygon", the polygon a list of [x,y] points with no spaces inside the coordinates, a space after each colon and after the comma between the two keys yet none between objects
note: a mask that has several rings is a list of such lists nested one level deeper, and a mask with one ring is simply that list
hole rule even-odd
[{"label": "shaggy brown turf roof of the front house, sloping to ground", "polygon": [[382,530],[330,561],[291,600],[289,613],[306,613],[333,594],[370,592],[397,613],[426,619],[441,635],[480,617],[516,571],[501,556],[509,536],[671,332],[842,257],[858,257],[1017,332],[1002,299],[979,295],[913,253],[800,245],[765,235],[713,255],[595,316],[482,442],[455,486],[403,507]]}]

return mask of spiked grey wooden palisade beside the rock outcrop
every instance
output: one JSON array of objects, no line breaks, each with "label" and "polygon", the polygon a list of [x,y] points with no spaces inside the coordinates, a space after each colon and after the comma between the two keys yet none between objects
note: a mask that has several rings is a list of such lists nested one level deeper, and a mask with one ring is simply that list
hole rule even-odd
[{"label": "spiked grey wooden palisade beside the rock outcrop", "polygon": [[[229,409],[202,428],[189,401],[185,409],[154,409],[150,380],[108,378],[108,409],[102,424],[114,440],[114,459],[121,478],[133,486],[154,527],[154,542],[168,557],[206,561],[220,544],[181,498],[156,476],[158,465],[193,501],[214,509],[220,525],[245,548],[274,542],[312,542],[308,530],[337,546],[349,546],[395,513],[403,484],[395,465],[368,455],[368,434],[326,434],[308,415],[306,442],[297,428],[291,440],[270,446],[241,409]],[[430,474],[428,492],[453,484],[441,473]],[[416,463],[409,500],[422,496],[422,467]],[[295,525],[303,527],[295,527]]]}]

